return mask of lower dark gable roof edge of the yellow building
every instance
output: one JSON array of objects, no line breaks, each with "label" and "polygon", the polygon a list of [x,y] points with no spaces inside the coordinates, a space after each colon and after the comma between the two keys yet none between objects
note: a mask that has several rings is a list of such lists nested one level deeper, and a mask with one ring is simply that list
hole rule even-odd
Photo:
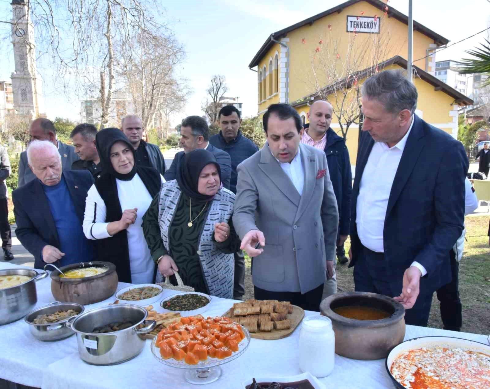
[{"label": "lower dark gable roof edge of the yellow building", "polygon": [[[394,57],[384,61],[380,62],[377,66],[378,69],[381,71],[382,69],[390,66],[390,65],[399,65],[404,69],[407,69],[407,60],[399,55],[395,55]],[[473,100],[471,100],[469,97],[465,96],[464,94],[458,92],[456,89],[451,88],[448,84],[445,82],[442,82],[439,78],[435,78],[431,74],[427,73],[425,70],[420,69],[419,67],[412,65],[412,68],[414,70],[415,76],[423,79],[425,82],[431,84],[434,86],[435,90],[441,90],[445,94],[451,96],[454,98],[456,104],[463,104],[463,105],[472,105]],[[369,76],[371,73],[371,68],[367,68],[364,70],[359,71],[355,76],[357,79],[361,80],[363,78],[366,78]],[[354,83],[354,77],[351,77],[351,79],[347,82],[348,87],[350,88],[352,84]],[[338,85],[343,84],[343,82],[337,82],[335,84],[327,85],[323,89],[323,93],[325,95],[329,95],[333,92],[335,92],[336,89],[338,89]],[[298,99],[294,103],[291,103],[292,106],[300,106],[304,105],[305,103],[315,99],[315,97],[318,97],[318,93],[312,93],[308,96],[305,96],[301,99]],[[470,111],[468,111],[470,112]]]}]

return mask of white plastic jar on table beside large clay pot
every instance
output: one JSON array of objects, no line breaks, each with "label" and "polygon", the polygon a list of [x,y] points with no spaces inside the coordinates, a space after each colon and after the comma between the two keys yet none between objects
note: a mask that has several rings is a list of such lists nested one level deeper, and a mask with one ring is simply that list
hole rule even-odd
[{"label": "white plastic jar on table beside large clay pot", "polygon": [[315,377],[326,377],[334,369],[335,334],[332,321],[321,315],[303,319],[299,331],[299,368]]}]

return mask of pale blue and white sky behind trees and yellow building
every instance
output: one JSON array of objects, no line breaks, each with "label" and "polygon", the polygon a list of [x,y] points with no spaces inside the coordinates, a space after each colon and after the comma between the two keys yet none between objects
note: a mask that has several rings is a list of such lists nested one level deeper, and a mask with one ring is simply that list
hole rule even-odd
[{"label": "pale blue and white sky behind trees and yellow building", "polygon": [[[248,64],[270,33],[316,15],[343,0],[161,0],[165,9],[158,17],[167,22],[187,52],[178,69],[188,78],[193,94],[182,110],[172,118],[172,126],[188,115],[202,115],[200,109],[206,88],[215,74],[226,77],[228,97],[239,97],[243,116],[257,113],[257,73]],[[408,0],[390,0],[388,6],[408,15]],[[0,0],[0,20],[8,15],[10,0]],[[466,38],[489,25],[490,1],[487,0],[414,0],[414,20],[450,40]],[[5,19],[3,19],[5,20]],[[5,34],[0,24],[0,35]],[[3,30],[2,30],[3,29]],[[437,53],[436,60],[467,57],[465,50],[484,42],[486,32]],[[8,47],[4,47],[8,44]],[[14,68],[11,44],[0,41],[0,79],[10,77]],[[6,49],[6,50],[4,50]],[[6,54],[6,55],[5,55]],[[43,68],[38,67],[39,72]],[[46,72],[49,73],[49,72]],[[42,75],[44,100],[49,118],[67,117],[79,121],[79,100],[67,98],[51,86],[51,75]]]}]

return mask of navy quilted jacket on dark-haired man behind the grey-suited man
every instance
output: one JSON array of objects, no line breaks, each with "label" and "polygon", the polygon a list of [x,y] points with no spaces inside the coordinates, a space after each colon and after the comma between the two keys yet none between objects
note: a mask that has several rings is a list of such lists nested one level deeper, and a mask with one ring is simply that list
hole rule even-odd
[{"label": "navy quilted jacket on dark-haired man behind the grey-suited man", "polygon": [[231,157],[231,181],[230,190],[233,193],[237,193],[237,166],[240,165],[245,159],[253,156],[259,151],[259,148],[250,139],[245,138],[242,135],[242,131],[238,130],[237,137],[230,142],[226,143],[223,134],[220,131],[216,135],[209,138],[209,143],[214,147],[221,149],[228,153]]}]

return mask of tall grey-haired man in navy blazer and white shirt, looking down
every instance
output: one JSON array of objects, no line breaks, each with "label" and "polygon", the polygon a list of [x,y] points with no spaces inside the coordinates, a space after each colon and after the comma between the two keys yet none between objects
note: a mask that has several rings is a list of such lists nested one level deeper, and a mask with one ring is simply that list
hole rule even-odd
[{"label": "tall grey-haired man in navy blazer and white shirt, looking down", "polygon": [[355,290],[394,297],[407,324],[426,326],[463,231],[465,149],[415,115],[417,89],[402,72],[368,78],[362,96],[349,253]]}]

